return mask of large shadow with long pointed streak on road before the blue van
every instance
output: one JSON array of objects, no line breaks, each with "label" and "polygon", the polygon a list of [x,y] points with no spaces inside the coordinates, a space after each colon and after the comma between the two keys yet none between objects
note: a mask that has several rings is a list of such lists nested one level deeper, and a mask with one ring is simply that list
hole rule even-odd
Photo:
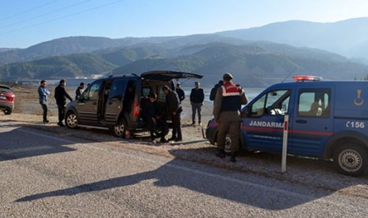
[{"label": "large shadow with long pointed streak on road before the blue van", "polygon": [[[195,150],[198,149],[192,150],[193,151],[175,150],[172,151],[172,154],[178,155],[181,152],[196,152]],[[296,193],[292,191],[289,192],[282,188],[278,189],[277,187],[261,185],[261,183],[257,182],[247,182],[228,176],[222,176],[220,174],[192,170],[185,167],[180,158],[175,158],[153,171],[146,171],[134,175],[107,179],[76,187],[34,194],[20,198],[16,200],[16,202],[28,202],[47,197],[73,196],[92,191],[122,188],[150,179],[157,180],[153,183],[157,187],[184,187],[205,195],[253,205],[269,210],[282,210],[291,208],[333,193],[331,191],[322,189],[318,193],[313,194],[308,193],[307,190],[305,190],[303,193]],[[344,185],[341,184],[339,188],[348,187],[349,185],[353,185],[355,182],[357,181],[355,180],[351,183],[345,183]],[[364,182],[364,184],[367,184],[367,182]]]}]

